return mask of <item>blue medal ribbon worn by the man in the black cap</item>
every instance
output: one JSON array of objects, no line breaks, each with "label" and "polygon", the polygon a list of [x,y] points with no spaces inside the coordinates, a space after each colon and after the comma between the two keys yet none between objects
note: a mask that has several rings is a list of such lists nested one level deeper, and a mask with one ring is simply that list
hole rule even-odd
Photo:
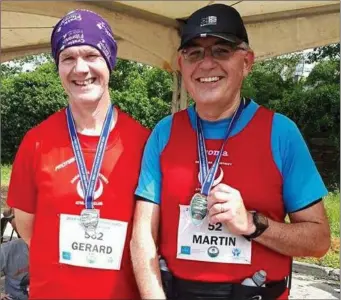
[{"label": "blue medal ribbon worn by the man in the black cap", "polygon": [[204,137],[204,132],[202,129],[202,124],[201,124],[201,119],[196,114],[196,122],[197,122],[197,140],[198,140],[198,155],[199,155],[199,170],[200,170],[200,176],[199,176],[199,181],[201,184],[201,194],[204,196],[208,196],[211,187],[214,182],[214,178],[216,176],[218,167],[219,167],[219,162],[221,155],[223,154],[224,147],[226,145],[226,142],[232,132],[232,129],[236,125],[243,109],[245,107],[245,99],[242,99],[240,102],[238,109],[234,112],[232,120],[227,128],[227,132],[223,141],[223,144],[221,145],[220,151],[212,165],[211,168],[208,166],[208,159],[207,159],[207,152],[206,152],[206,145],[205,145],[205,137]]}]

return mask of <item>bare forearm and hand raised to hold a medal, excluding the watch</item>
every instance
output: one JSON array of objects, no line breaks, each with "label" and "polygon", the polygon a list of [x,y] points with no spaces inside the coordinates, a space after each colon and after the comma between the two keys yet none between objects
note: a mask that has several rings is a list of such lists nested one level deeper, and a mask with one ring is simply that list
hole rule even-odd
[{"label": "bare forearm and hand raised to hold a medal, excluding the watch", "polygon": [[[255,232],[252,214],[238,190],[219,184],[208,196],[210,223],[223,222],[231,233]],[[254,240],[287,256],[321,257],[330,247],[330,230],[323,202],[289,214],[290,224],[269,219],[269,228]]]}]

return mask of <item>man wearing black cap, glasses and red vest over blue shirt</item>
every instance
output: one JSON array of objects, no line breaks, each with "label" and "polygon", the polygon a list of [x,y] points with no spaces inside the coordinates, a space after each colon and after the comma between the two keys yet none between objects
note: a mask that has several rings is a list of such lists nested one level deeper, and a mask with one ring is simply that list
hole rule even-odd
[{"label": "man wearing black cap, glasses and red vest over blue shirt", "polygon": [[254,53],[234,8],[193,13],[178,62],[195,105],[145,148],[131,242],[141,296],[286,299],[292,257],[330,244],[309,150],[293,121],[241,97]]}]

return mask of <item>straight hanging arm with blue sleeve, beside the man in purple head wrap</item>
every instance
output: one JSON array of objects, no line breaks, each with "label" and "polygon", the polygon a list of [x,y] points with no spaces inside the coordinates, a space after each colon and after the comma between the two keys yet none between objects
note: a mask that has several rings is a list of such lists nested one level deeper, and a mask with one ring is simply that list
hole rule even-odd
[{"label": "straight hanging arm with blue sleeve, beside the man in purple head wrap", "polygon": [[160,155],[168,143],[171,120],[170,116],[161,120],[149,136],[135,191],[138,199],[150,201],[137,201],[130,243],[135,277],[143,299],[166,299],[157,254],[157,235],[162,180]]}]

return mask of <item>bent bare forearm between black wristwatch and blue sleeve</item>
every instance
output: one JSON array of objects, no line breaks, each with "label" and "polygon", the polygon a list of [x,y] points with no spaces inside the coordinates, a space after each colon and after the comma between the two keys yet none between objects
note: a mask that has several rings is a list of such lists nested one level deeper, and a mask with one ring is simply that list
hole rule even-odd
[{"label": "bent bare forearm between black wristwatch and blue sleeve", "polygon": [[325,255],[330,247],[330,229],[323,202],[289,217],[290,224],[269,220],[269,228],[255,241],[287,256]]}]

